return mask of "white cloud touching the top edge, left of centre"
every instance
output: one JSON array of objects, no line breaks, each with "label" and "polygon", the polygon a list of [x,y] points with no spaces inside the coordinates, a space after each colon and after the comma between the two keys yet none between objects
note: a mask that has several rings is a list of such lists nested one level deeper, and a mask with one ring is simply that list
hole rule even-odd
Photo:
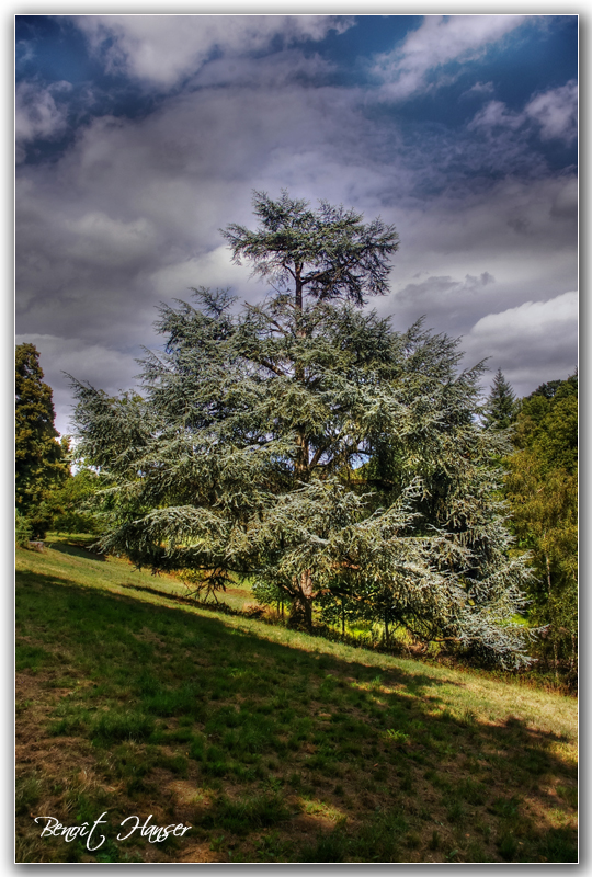
[{"label": "white cloud touching the top edge, left of centre", "polygon": [[109,72],[169,90],[217,56],[241,57],[322,39],[353,23],[335,15],[83,15],[73,16]]}]

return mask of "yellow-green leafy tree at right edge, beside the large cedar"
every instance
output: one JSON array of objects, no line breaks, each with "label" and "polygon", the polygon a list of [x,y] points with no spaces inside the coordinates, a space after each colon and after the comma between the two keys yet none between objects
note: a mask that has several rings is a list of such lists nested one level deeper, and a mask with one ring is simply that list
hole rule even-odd
[{"label": "yellow-green leafy tree at right edge, beside the large cedar", "polygon": [[550,381],[522,400],[516,452],[506,459],[515,534],[531,551],[531,619],[546,625],[539,652],[556,675],[574,675],[578,651],[578,378]]}]

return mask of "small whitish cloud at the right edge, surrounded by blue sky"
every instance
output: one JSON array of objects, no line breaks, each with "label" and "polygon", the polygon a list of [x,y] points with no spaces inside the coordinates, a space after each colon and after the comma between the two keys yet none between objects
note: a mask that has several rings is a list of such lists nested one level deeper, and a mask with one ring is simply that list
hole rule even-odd
[{"label": "small whitish cloud at the right edge, surrounded by blue sky", "polygon": [[493,136],[496,129],[512,132],[539,126],[544,140],[563,140],[569,146],[578,135],[578,84],[570,80],[566,86],[551,89],[533,98],[520,113],[509,111],[501,101],[489,101],[468,124],[469,130],[482,130]]}]

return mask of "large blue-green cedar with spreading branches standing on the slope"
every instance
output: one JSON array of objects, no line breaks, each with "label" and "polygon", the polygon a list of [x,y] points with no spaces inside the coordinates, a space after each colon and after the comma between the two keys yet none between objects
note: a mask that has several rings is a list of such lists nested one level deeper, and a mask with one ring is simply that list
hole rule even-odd
[{"label": "large blue-green cedar with spreading branches standing on the slope", "polygon": [[212,589],[254,577],[295,626],[334,596],[424,642],[525,660],[525,567],[489,468],[505,438],[474,422],[482,367],[356,309],[386,292],[392,228],[286,193],[254,206],[258,231],[226,237],[273,281],[265,303],[234,315],[197,289],[163,306],[141,397],[73,384],[80,451],[111,481],[104,548]]}]

